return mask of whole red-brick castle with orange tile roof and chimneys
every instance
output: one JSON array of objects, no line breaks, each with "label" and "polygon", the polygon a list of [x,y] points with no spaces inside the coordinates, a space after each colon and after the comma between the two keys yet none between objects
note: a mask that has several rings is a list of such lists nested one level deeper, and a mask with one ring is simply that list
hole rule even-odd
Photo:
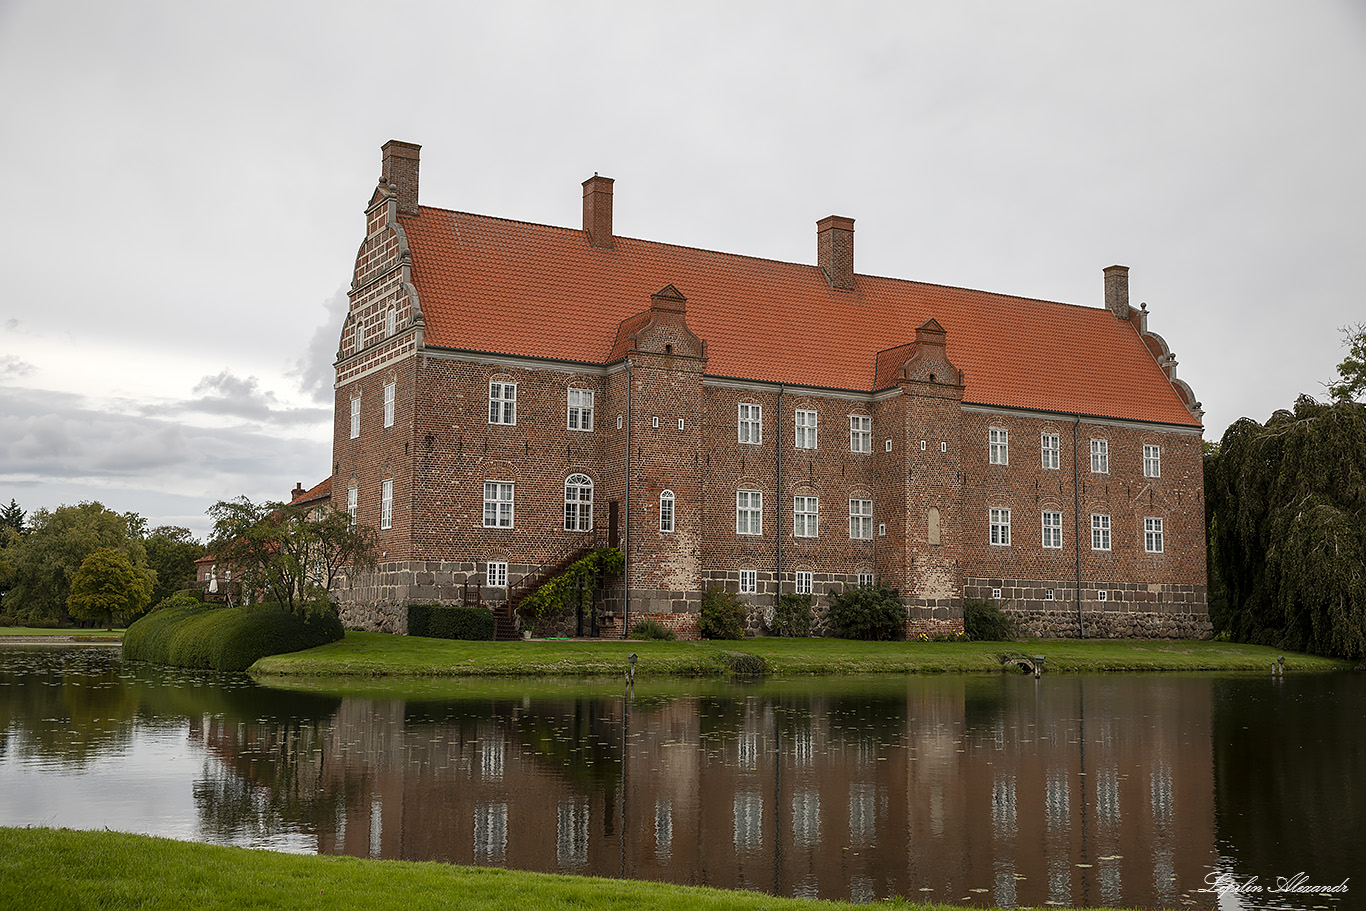
[{"label": "whole red-brick castle with orange tile roof and chimneys", "polygon": [[1209,632],[1202,412],[1126,266],[1089,307],[855,273],[840,216],[814,264],[638,240],[601,176],[582,227],[511,221],[421,205],[418,153],[382,148],[336,361],[331,500],[382,552],[350,626],[615,545],[581,634],[861,583],[910,634],[964,598],[1038,635]]}]

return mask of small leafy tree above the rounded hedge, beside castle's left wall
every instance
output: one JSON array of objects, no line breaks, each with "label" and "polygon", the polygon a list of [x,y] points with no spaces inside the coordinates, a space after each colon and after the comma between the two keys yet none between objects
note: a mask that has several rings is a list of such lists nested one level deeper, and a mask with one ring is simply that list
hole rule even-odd
[{"label": "small leafy tree above the rounded hedge, beside castle's left wall", "polygon": [[374,529],[344,511],[317,511],[247,497],[209,507],[209,552],[257,598],[307,613],[322,602],[346,567],[374,565]]}]

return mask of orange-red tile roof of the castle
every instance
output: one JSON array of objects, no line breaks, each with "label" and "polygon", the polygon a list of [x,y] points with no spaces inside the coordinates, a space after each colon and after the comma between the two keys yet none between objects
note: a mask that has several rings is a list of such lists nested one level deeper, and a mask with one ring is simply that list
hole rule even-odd
[{"label": "orange-red tile roof of the castle", "polygon": [[[1138,331],[1105,309],[758,260],[423,206],[402,216],[425,343],[609,363],[622,321],[673,284],[708,343],[709,376],[878,387],[877,354],[937,320],[967,403],[1199,426]],[[1098,284],[1098,283],[1097,283]]]}]

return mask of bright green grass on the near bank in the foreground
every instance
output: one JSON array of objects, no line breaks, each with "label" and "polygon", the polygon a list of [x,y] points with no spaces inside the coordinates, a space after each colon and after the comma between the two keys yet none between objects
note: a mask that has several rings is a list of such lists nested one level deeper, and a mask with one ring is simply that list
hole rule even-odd
[{"label": "bright green grass on the near bank in the foreground", "polygon": [[[0,891],[15,908],[298,911],[852,911],[665,882],[597,880],[445,863],[275,854],[119,832],[0,828]],[[893,899],[884,907],[952,906]]]}]

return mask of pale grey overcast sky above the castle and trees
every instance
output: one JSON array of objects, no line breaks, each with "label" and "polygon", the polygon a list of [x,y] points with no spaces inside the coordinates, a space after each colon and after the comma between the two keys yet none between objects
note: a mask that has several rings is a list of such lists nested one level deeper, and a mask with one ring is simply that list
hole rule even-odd
[{"label": "pale grey overcast sky above the castle and trees", "polygon": [[[380,173],[422,201],[1102,306],[1206,437],[1366,320],[1366,3],[0,0],[0,504],[208,529],[331,470]],[[1098,381],[1104,381],[1102,377]]]}]

